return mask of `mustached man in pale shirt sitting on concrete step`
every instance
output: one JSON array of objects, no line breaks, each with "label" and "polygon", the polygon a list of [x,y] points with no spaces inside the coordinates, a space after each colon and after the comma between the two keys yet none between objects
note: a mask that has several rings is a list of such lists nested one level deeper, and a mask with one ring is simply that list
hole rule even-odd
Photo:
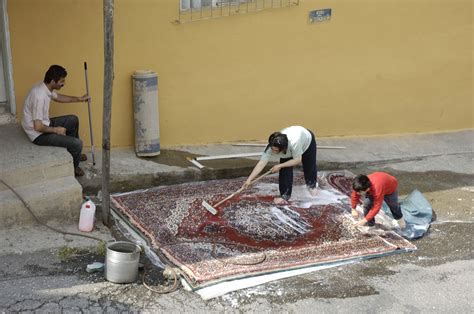
[{"label": "mustached man in pale shirt sitting on concrete step", "polygon": [[59,146],[71,153],[74,161],[74,175],[83,176],[80,161],[87,160],[82,152],[79,139],[79,119],[75,115],[49,117],[51,99],[61,103],[87,101],[88,95],[81,97],[66,96],[55,92],[66,81],[67,72],[62,66],[52,65],[44,76],[43,82],[34,85],[26,96],[23,105],[21,125],[30,140],[36,145]]}]

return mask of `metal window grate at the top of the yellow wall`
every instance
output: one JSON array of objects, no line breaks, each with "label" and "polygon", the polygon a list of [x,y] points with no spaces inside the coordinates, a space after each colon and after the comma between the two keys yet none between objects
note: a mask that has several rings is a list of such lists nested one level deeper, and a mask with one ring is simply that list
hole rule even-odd
[{"label": "metal window grate at the top of the yellow wall", "polygon": [[178,23],[296,6],[299,0],[179,0]]}]

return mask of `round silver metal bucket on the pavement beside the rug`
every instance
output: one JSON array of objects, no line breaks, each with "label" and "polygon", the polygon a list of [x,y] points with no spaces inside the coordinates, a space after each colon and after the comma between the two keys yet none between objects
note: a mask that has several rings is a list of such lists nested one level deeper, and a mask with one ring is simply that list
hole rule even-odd
[{"label": "round silver metal bucket on the pavement beside the rug", "polygon": [[137,279],[141,248],[132,242],[107,244],[105,279],[115,283],[130,283]]}]

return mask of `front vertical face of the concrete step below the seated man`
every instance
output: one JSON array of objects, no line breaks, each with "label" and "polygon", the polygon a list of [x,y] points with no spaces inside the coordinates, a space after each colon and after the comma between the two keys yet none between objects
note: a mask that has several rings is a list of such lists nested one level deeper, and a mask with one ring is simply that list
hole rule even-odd
[{"label": "front vertical face of the concrete step below the seated man", "polygon": [[[43,222],[79,221],[82,187],[72,176],[24,185],[15,190]],[[0,191],[0,228],[33,223],[34,218],[11,190]]]}]

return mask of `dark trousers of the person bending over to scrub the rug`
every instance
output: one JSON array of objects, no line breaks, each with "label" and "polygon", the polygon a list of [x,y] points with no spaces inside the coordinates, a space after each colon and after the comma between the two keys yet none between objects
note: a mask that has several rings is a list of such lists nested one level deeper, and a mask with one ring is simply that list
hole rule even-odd
[{"label": "dark trousers of the person bending over to scrub the rug", "polygon": [[[301,156],[301,162],[303,163],[304,180],[306,185],[313,189],[316,187],[318,168],[316,166],[316,139],[313,132],[311,133],[311,144],[308,149]],[[280,158],[280,163],[284,163],[292,158]],[[293,189],[293,167],[286,167],[280,169],[278,184],[280,188],[281,198],[289,200]]]}]

